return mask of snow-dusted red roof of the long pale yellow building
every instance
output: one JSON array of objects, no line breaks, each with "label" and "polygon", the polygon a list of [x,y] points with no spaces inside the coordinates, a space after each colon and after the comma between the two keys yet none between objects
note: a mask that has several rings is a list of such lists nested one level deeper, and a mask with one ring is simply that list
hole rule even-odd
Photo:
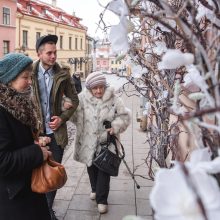
[{"label": "snow-dusted red roof of the long pale yellow building", "polygon": [[87,30],[87,27],[79,23],[81,20],[80,18],[67,14],[59,7],[55,7],[41,1],[18,0],[17,11],[24,15]]}]

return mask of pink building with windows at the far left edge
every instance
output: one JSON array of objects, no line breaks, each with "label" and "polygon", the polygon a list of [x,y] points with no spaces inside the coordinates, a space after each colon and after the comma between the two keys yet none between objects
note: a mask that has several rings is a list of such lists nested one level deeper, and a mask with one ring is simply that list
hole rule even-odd
[{"label": "pink building with windows at the far left edge", "polygon": [[0,0],[0,57],[15,50],[16,0]]}]

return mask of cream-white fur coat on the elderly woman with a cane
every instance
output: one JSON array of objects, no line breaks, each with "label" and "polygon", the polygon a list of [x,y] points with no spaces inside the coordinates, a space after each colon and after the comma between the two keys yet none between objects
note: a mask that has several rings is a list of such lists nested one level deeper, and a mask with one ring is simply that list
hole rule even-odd
[{"label": "cream-white fur coat on the elderly woman with a cane", "polygon": [[95,98],[88,89],[79,94],[79,106],[71,118],[76,124],[74,159],[92,165],[94,154],[101,142],[107,139],[103,126],[111,121],[114,133],[119,136],[130,124],[130,110],[126,108],[113,88],[106,88],[102,99]]}]

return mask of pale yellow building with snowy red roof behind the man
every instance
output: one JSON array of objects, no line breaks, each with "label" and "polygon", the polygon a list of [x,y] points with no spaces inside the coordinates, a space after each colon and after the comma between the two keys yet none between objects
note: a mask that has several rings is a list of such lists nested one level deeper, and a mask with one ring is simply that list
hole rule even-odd
[{"label": "pale yellow building with snowy red roof behind the man", "polygon": [[71,73],[80,72],[85,77],[87,28],[80,18],[56,7],[56,1],[47,4],[36,0],[18,0],[16,14],[16,51],[37,59],[36,40],[43,35],[56,34],[57,61],[70,64]]}]

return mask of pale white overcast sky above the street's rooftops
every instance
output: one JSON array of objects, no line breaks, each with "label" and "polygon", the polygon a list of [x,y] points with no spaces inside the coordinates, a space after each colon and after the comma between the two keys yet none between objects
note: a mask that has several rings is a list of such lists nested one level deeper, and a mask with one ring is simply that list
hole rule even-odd
[{"label": "pale white overcast sky above the street's rooftops", "polygon": [[[43,2],[52,3],[52,0],[41,0]],[[102,5],[107,5],[110,0],[99,0]],[[62,8],[68,14],[73,14],[82,19],[81,24],[87,26],[88,35],[91,37],[104,37],[105,34],[99,29],[97,24],[100,21],[99,15],[104,11],[97,0],[57,0],[57,7]],[[117,24],[118,18],[113,13],[107,11],[104,14],[104,21],[107,25]]]}]

